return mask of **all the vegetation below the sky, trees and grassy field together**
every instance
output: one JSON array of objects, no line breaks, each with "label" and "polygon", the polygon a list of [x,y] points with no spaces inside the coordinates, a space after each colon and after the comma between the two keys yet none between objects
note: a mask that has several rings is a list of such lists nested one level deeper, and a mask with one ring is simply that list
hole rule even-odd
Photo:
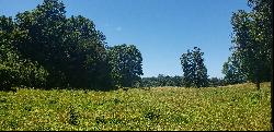
[{"label": "all the vegetation below the sky, trees and grassy field together", "polygon": [[182,53],[182,76],[141,79],[136,46],[109,47],[58,0],[0,16],[0,130],[273,130],[273,1],[248,3],[231,17],[224,79],[208,79],[198,47]]}]

